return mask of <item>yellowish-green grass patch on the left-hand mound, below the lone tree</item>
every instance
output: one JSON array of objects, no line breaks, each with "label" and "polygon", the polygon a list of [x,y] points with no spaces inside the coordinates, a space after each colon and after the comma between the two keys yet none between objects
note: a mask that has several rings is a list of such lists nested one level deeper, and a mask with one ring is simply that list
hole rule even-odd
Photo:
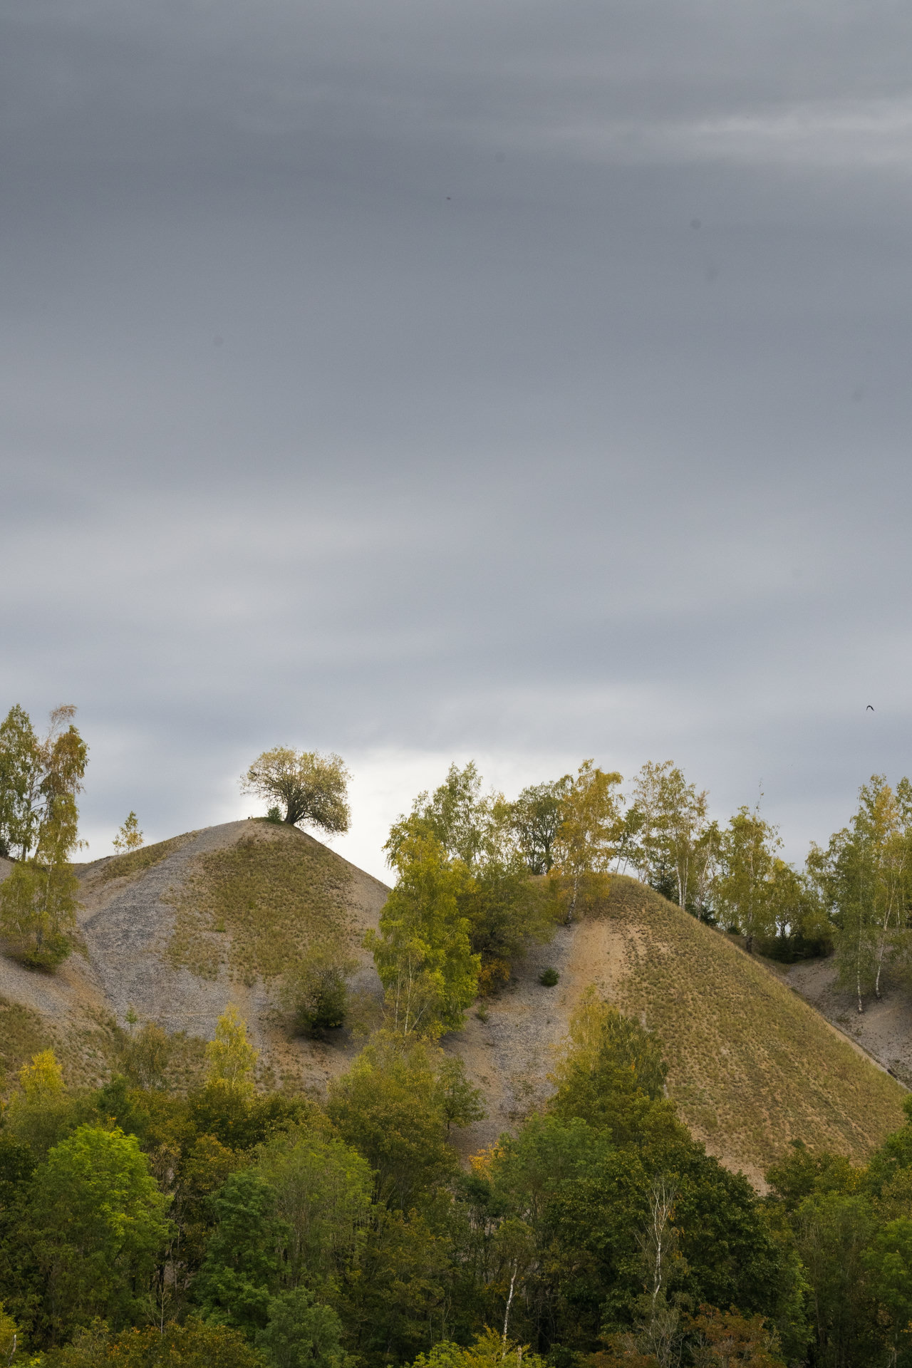
[{"label": "yellowish-green grass patch on the left-hand mound, below the lone tree", "polygon": [[314,941],[346,936],[349,882],[332,851],[293,828],[257,824],[237,845],[205,855],[170,896],[168,959],[201,978],[222,966],[243,984],[278,978]]}]

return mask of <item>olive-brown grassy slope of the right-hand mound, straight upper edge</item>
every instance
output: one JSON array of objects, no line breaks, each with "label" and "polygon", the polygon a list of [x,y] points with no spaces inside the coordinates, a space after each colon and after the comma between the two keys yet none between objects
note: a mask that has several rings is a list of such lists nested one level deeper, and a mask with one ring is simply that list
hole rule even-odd
[{"label": "olive-brown grassy slope of the right-hand mound, straight upper edge", "polygon": [[711,1150],[760,1171],[792,1140],[863,1160],[902,1123],[900,1085],[719,932],[625,877],[606,915],[625,941],[618,1005],[662,1037],[669,1092]]}]

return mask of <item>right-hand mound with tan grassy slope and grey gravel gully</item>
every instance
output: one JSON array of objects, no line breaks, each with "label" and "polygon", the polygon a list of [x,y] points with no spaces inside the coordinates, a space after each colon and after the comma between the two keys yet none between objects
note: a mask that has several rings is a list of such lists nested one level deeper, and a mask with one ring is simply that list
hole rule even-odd
[{"label": "right-hand mound with tan grassy slope and grey gravel gully", "polygon": [[[540,964],[561,973],[537,982]],[[580,995],[603,996],[663,1041],[669,1092],[729,1167],[762,1183],[792,1140],[861,1160],[902,1122],[904,1089],[763,963],[652,889],[611,881],[602,915],[544,947],[517,982],[450,1038],[489,1097],[477,1148],[548,1092]]]}]

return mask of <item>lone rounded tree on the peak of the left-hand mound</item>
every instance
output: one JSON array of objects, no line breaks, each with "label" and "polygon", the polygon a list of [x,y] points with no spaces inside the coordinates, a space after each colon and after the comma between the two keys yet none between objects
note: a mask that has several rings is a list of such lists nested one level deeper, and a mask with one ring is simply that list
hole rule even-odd
[{"label": "lone rounded tree on the peak of the left-hand mound", "polygon": [[289,826],[305,824],[330,833],[349,830],[347,782],[340,755],[298,754],[287,746],[264,751],[241,776],[242,792],[284,803]]}]

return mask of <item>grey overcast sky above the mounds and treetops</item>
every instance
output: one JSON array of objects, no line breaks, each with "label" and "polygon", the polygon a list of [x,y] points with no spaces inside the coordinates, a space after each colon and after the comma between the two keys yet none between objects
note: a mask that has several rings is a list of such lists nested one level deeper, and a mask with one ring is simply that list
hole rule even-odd
[{"label": "grey overcast sky above the mounds and treetops", "polygon": [[[390,819],[912,769],[905,0],[11,0],[0,707],[108,854],[273,744]],[[874,705],[875,711],[867,710]]]}]

